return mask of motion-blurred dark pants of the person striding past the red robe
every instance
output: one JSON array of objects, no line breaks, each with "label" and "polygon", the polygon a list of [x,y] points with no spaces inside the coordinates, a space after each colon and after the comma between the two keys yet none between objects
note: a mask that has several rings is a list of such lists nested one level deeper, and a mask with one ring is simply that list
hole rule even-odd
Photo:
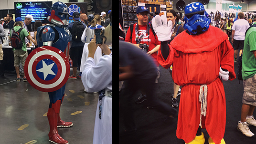
[{"label": "motion-blurred dark pants of the person striding past the red robe", "polygon": [[154,96],[154,84],[156,77],[151,77],[148,79],[142,79],[138,77],[131,78],[129,80],[124,81],[124,88],[122,89],[119,102],[120,102],[120,110],[124,114],[124,125],[126,130],[134,130],[136,128],[134,121],[134,109],[133,105],[135,105],[134,96],[138,90],[141,90],[146,93],[147,102],[149,107],[153,107],[154,109],[160,111],[164,115],[177,115],[177,110],[172,108],[170,105],[161,102]]}]

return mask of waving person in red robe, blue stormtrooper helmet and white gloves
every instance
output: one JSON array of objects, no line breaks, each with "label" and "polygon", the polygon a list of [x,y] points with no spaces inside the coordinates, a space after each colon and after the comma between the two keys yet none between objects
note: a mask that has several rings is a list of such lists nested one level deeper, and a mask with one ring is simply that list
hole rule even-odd
[{"label": "waving person in red robe, blue stormtrooper helmet and white gloves", "polygon": [[[234,49],[227,35],[210,26],[203,4],[193,2],[185,9],[185,31],[170,43],[172,22],[165,15],[152,19],[161,47],[158,61],[173,65],[175,84],[182,86],[176,135],[186,144],[204,144],[202,128],[209,144],[225,144],[225,93],[222,80],[235,79]],[[186,43],[183,42],[186,39]]]}]

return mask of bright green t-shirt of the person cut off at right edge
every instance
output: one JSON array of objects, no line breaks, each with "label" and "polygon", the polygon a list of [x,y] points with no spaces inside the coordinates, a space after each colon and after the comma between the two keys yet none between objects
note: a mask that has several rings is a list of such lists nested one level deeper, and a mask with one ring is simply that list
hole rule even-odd
[{"label": "bright green t-shirt of the person cut off at right edge", "polygon": [[[254,23],[254,25],[256,22]],[[252,51],[256,50],[256,27],[250,28],[245,35],[242,62],[242,77],[248,79],[256,74],[256,59]]]}]

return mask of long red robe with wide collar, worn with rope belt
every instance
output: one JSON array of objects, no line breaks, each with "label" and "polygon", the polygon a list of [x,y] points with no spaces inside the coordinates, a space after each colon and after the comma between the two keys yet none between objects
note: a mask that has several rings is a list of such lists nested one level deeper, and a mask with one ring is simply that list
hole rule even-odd
[{"label": "long red robe with wide collar, worn with rope belt", "polygon": [[183,31],[171,41],[169,48],[166,60],[159,49],[158,61],[164,68],[173,65],[173,81],[182,86],[177,137],[185,143],[194,139],[200,124],[200,86],[206,84],[207,106],[206,116],[202,115],[202,127],[215,144],[220,144],[226,123],[224,86],[218,78],[220,67],[229,71],[229,80],[235,79],[234,49],[227,34],[212,26],[199,35]]}]

